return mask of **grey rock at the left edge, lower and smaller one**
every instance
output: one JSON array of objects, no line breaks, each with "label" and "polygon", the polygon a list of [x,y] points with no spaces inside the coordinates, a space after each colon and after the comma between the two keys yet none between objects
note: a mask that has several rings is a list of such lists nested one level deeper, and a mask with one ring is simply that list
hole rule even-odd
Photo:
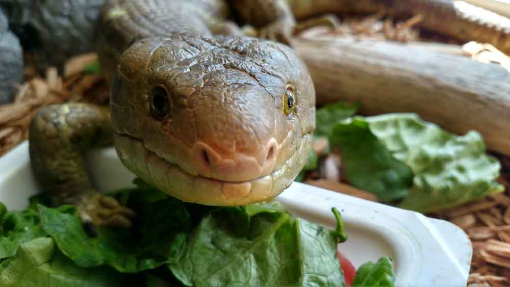
[{"label": "grey rock at the left edge, lower and smaller one", "polygon": [[23,80],[23,53],[18,38],[9,31],[9,24],[0,9],[0,105],[12,102],[15,83]]}]

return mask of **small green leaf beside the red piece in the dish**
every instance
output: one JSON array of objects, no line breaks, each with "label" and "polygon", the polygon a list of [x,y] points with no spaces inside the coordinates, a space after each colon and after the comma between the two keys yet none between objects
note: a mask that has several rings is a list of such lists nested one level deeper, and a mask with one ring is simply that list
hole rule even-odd
[{"label": "small green leaf beside the red piece in the dish", "polygon": [[358,268],[352,287],[394,287],[395,275],[390,257],[381,257],[376,263],[367,262]]}]

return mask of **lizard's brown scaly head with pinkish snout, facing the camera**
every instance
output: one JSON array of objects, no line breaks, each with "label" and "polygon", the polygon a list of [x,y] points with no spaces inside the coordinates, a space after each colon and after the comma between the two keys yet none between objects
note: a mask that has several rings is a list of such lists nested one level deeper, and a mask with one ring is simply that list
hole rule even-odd
[{"label": "lizard's brown scaly head with pinkish snout, facing the camera", "polygon": [[111,100],[123,164],[184,201],[272,198],[312,147],[312,79],[275,42],[185,33],[139,40],[120,58]]}]

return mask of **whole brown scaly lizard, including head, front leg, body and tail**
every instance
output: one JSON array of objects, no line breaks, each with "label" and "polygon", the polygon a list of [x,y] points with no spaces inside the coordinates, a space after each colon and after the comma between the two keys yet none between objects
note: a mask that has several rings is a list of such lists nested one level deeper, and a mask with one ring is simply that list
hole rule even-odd
[{"label": "whole brown scaly lizard, including head, front leg, body and tail", "polygon": [[[93,188],[83,160],[114,135],[122,163],[176,198],[210,205],[272,198],[304,166],[315,128],[308,70],[275,41],[291,42],[294,16],[374,12],[393,2],[107,0],[96,36],[112,82],[111,120],[108,110],[84,104],[39,111],[30,131],[35,175],[55,204],[77,205],[83,221],[129,227],[133,212]],[[386,11],[425,13],[423,27],[508,46],[500,37],[507,32],[463,18],[451,1],[407,3]],[[335,22],[316,22],[324,19]],[[274,41],[243,36],[255,34]]]}]

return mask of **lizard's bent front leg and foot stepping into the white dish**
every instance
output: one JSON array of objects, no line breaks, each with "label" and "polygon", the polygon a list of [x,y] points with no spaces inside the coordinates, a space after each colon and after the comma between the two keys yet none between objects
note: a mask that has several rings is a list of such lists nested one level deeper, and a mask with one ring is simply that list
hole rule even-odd
[{"label": "lizard's bent front leg and foot stepping into the white dish", "polygon": [[111,144],[110,112],[85,103],[52,105],[38,111],[30,125],[32,169],[54,205],[73,204],[84,224],[129,228],[134,212],[94,189],[84,152]]}]

